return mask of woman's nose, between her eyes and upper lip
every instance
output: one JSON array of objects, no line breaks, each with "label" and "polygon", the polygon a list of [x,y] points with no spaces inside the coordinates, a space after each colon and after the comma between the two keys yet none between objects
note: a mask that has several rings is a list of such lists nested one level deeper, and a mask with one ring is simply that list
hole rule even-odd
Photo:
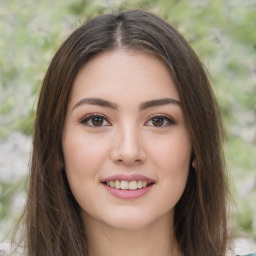
[{"label": "woman's nose, between her eyes and upper lip", "polygon": [[139,128],[131,125],[120,127],[113,140],[111,159],[115,163],[126,166],[142,164],[146,159],[146,153]]}]

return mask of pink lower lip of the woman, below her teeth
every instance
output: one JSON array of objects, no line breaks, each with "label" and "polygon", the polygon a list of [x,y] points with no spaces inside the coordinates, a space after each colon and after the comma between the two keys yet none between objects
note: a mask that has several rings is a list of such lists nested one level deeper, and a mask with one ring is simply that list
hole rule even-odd
[{"label": "pink lower lip of the woman, below her teeth", "polygon": [[[103,183],[102,183],[103,184]],[[115,197],[121,198],[121,199],[136,199],[144,196],[146,193],[148,193],[154,184],[151,184],[145,188],[140,188],[136,190],[128,190],[128,189],[117,189],[109,187],[106,184],[103,184],[103,186],[106,188],[106,190],[112,194]]]}]

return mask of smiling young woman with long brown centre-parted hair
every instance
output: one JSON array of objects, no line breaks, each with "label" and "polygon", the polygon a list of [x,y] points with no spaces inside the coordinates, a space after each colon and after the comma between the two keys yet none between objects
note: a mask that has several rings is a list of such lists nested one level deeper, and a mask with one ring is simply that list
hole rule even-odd
[{"label": "smiling young woman with long brown centre-parted hair", "polygon": [[27,255],[223,256],[227,191],[219,110],[186,40],[144,11],[71,34],[38,103]]}]

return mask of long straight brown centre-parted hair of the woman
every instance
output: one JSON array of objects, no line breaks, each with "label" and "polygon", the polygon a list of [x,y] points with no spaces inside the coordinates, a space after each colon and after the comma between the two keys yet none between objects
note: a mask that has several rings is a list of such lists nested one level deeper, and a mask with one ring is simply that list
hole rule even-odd
[{"label": "long straight brown centre-parted hair of the woman", "polygon": [[95,55],[118,48],[151,53],[177,86],[196,167],[175,207],[175,235],[184,255],[225,255],[227,185],[222,125],[205,69],[187,41],[161,18],[140,10],[98,16],[74,31],[43,81],[23,215],[29,256],[87,255],[86,227],[70,192],[61,137],[73,81]]}]

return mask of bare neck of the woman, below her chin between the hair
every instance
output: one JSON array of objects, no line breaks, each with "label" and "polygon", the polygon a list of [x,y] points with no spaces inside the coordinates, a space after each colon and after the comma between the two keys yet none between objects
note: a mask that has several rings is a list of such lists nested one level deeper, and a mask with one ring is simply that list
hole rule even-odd
[{"label": "bare neck of the woman, below her chin between the hair", "polygon": [[[167,223],[168,222],[168,223]],[[136,229],[118,229],[86,221],[89,256],[181,256],[170,221]]]}]

